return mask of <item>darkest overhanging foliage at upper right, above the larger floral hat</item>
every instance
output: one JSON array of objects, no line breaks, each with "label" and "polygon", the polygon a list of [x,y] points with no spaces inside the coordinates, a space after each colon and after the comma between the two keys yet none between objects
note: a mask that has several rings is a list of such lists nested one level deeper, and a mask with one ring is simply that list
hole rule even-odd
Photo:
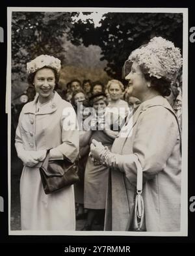
[{"label": "darkest overhanging foliage at upper right, above the larger floral hat", "polygon": [[182,49],[183,15],[174,13],[116,13],[103,15],[101,26],[91,20],[80,20],[72,30],[71,40],[85,46],[100,46],[101,60],[107,60],[105,71],[116,79],[122,77],[122,66],[131,51],[148,42],[153,36],[163,36]]}]

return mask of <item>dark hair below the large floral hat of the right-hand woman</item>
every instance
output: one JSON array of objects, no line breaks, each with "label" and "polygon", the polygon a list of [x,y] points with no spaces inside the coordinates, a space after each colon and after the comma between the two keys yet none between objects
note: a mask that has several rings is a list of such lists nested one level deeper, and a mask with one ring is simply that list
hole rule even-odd
[{"label": "dark hair below the large floral hat of the right-hand woman", "polygon": [[151,81],[151,87],[159,92],[162,96],[169,96],[171,93],[171,82],[167,81],[165,78],[155,78],[154,76],[149,76],[148,70],[140,65],[140,70],[144,74],[147,81]]}]

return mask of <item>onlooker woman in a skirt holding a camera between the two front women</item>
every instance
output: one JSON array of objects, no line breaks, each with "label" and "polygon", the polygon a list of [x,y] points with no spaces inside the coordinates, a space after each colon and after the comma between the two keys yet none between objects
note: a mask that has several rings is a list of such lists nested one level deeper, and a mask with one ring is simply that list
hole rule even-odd
[{"label": "onlooker woman in a skirt holding a camera between the two front women", "polygon": [[[94,94],[91,98],[92,107],[96,111],[94,119],[91,120],[91,129],[88,130],[85,137],[81,141],[81,145],[90,145],[92,139],[98,139],[103,145],[111,148],[114,141],[109,131],[105,131],[105,108],[107,106],[107,98],[105,94]],[[103,126],[104,127],[103,127]],[[116,136],[115,136],[116,137]],[[89,156],[85,169],[85,190],[84,190],[84,205],[88,209],[88,216],[83,227],[83,231],[94,229],[93,223],[97,216],[101,216],[101,224],[105,216],[105,201],[107,192],[109,169],[100,162],[95,161]]]}]

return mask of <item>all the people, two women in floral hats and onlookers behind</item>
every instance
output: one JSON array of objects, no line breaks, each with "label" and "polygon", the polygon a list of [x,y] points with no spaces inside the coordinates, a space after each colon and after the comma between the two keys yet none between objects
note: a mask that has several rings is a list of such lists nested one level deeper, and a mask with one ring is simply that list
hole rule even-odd
[{"label": "all the people, two women in floral hats and onlookers behind", "polygon": [[[156,54],[158,50],[162,56]],[[149,51],[156,58],[152,59]],[[153,38],[133,51],[125,63],[127,87],[117,79],[107,84],[72,79],[59,89],[59,59],[40,55],[27,63],[27,94],[31,92],[31,96],[22,109],[18,108],[17,128],[15,124],[16,150],[24,164],[21,229],[75,230],[75,219],[83,218],[83,231],[96,230],[94,223],[99,223],[101,230],[125,231],[135,196],[136,155],[144,173],[146,230],[179,230],[179,54],[172,42]],[[78,121],[71,130],[64,128],[68,107],[72,119]],[[85,122],[90,107],[94,116]],[[16,107],[13,109],[17,112]],[[132,118],[133,134],[120,137]],[[82,129],[79,122],[84,124]],[[68,158],[73,162],[77,158],[80,178],[73,186],[51,195],[45,195],[38,172],[47,149],[51,149],[51,160]]]}]

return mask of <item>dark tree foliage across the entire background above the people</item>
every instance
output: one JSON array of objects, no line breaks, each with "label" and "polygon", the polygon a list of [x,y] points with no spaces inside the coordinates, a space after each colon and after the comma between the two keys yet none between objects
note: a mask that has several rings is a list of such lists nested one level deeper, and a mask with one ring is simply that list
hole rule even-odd
[{"label": "dark tree foliage across the entire background above the people", "polygon": [[[87,18],[91,12],[83,14]],[[121,79],[123,63],[131,51],[148,42],[153,36],[163,36],[172,40],[175,46],[182,48],[183,17],[179,13],[109,12],[103,15],[99,27],[95,27],[92,18],[75,22],[74,18],[78,16],[79,12],[12,12],[13,96],[14,91],[16,94],[25,91],[26,63],[40,54],[58,57],[62,64],[72,66],[70,68],[72,72],[75,72],[73,66],[77,70],[79,68],[83,71],[88,70],[89,64],[92,66],[91,72],[88,71],[90,74],[105,66],[105,64],[97,66],[97,58],[99,58],[99,63],[101,61],[106,63],[104,70],[108,74],[107,78]],[[75,48],[70,49],[75,54],[68,52],[68,44],[64,44],[66,40],[75,45]],[[93,52],[91,49],[86,51],[84,56],[83,45],[99,46],[101,52]],[[76,46],[81,46],[83,54],[79,48],[76,51]],[[93,54],[96,60],[94,63]],[[69,61],[66,59],[68,56]],[[71,58],[73,61],[70,61]],[[87,58],[90,58],[89,63]],[[78,63],[81,63],[80,67],[77,66]],[[96,75],[100,73],[98,71]],[[101,75],[107,79],[103,73]],[[83,74],[82,79],[86,76],[88,74]]]}]

